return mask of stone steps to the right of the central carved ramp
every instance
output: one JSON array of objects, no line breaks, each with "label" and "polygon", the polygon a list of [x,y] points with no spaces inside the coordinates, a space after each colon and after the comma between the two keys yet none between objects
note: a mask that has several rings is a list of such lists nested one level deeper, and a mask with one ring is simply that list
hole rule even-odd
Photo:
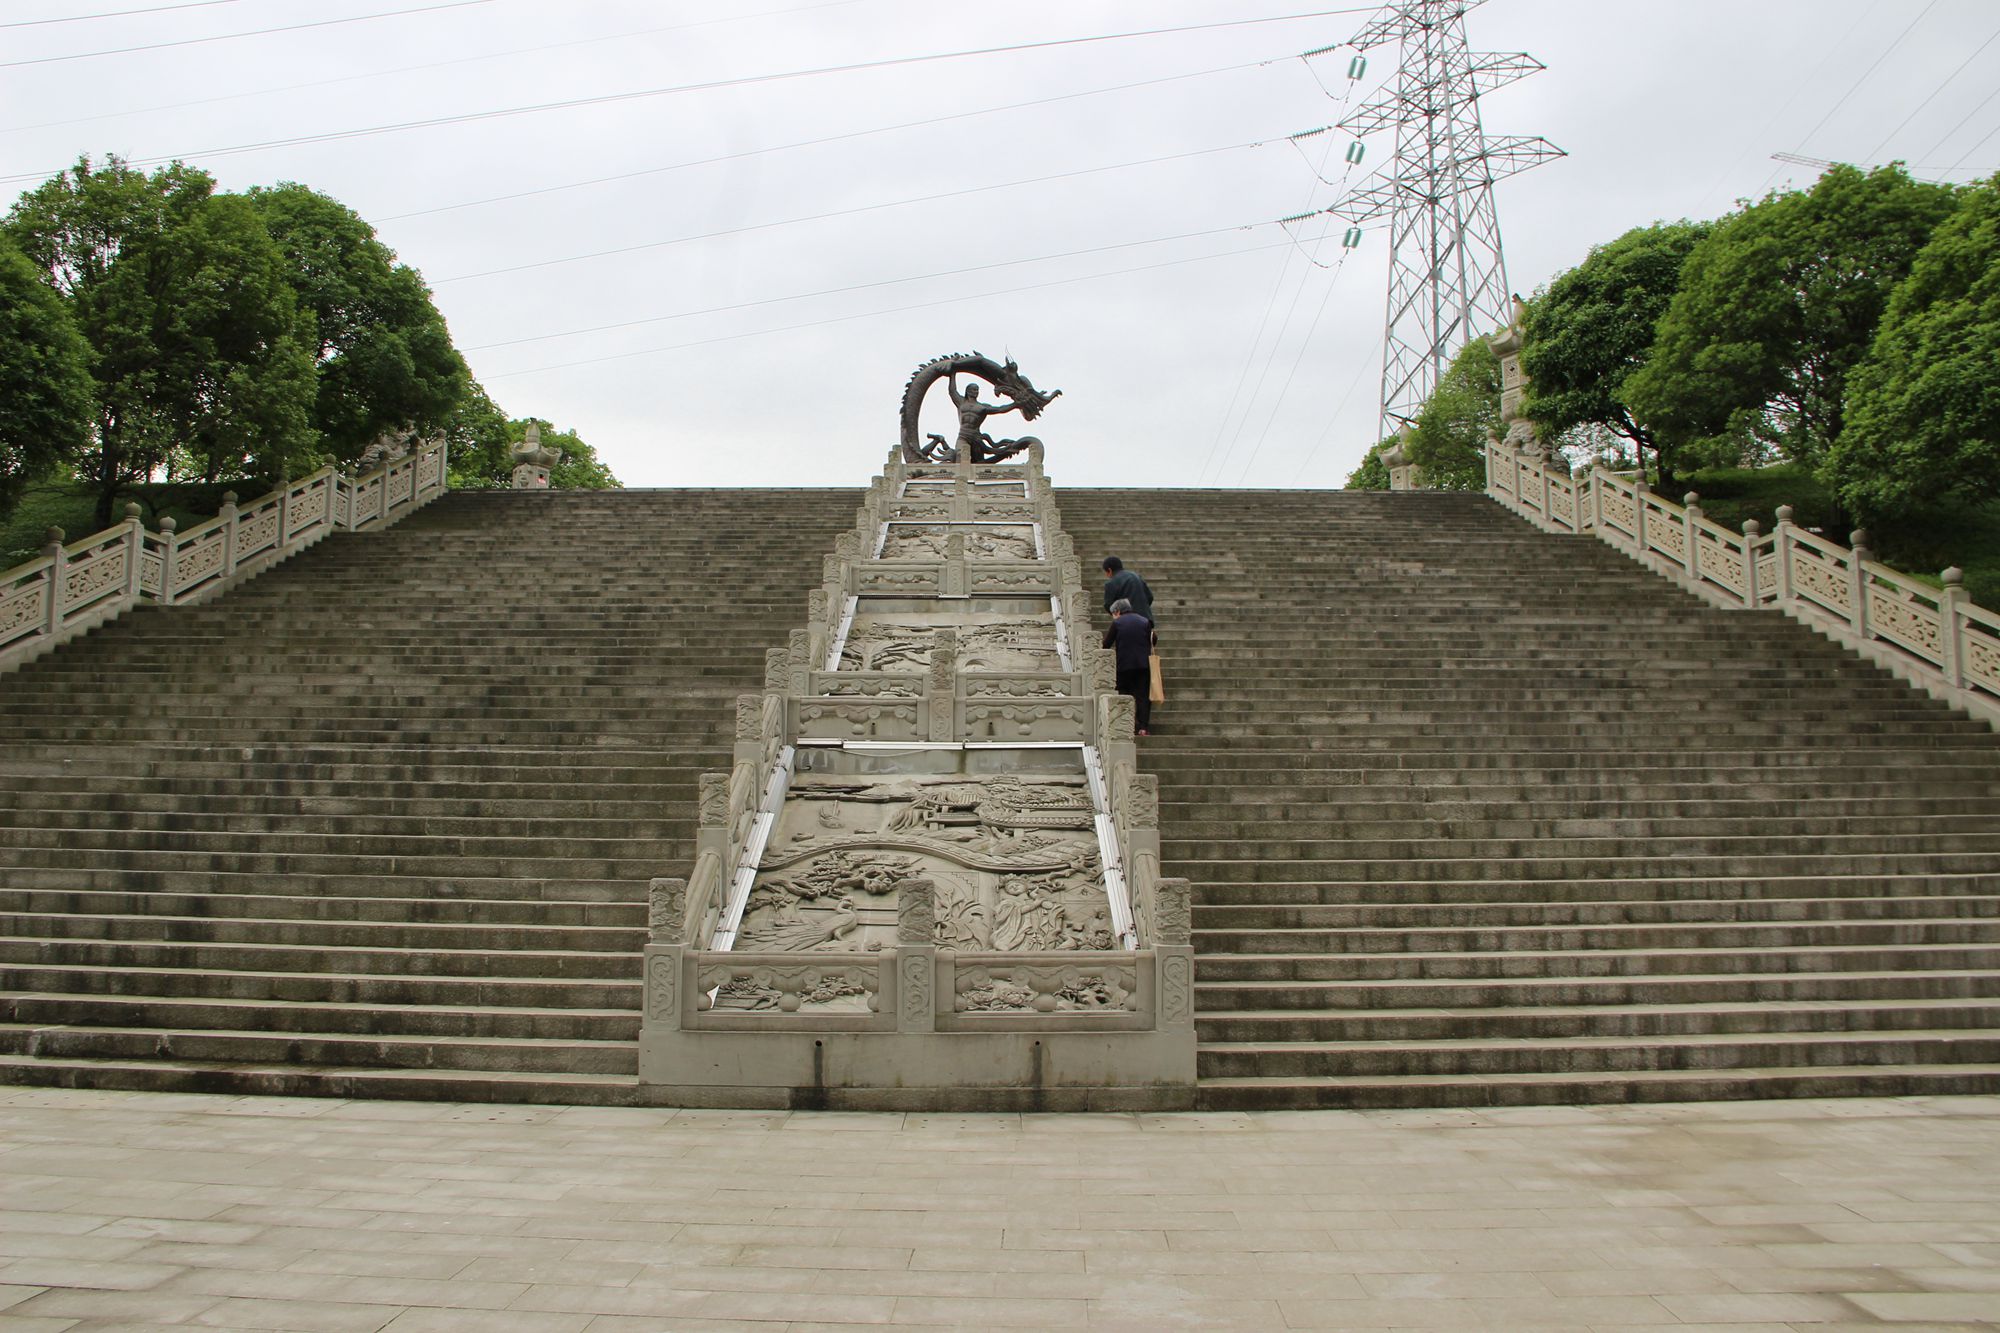
[{"label": "stone steps to the right of the central carved ramp", "polygon": [[2000,737],[1476,494],[1062,490],[1156,594],[1200,1105],[2000,1091]]}]

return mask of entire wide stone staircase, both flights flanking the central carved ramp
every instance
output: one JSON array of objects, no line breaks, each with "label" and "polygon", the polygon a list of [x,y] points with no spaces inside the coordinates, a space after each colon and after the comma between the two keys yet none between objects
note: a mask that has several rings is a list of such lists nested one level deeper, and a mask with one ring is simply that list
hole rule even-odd
[{"label": "entire wide stone staircase, both flights flanking the central carved ramp", "polygon": [[[856,492],[454,494],[0,677],[0,1081],[614,1103]],[[2000,1091],[2000,739],[1482,496],[1058,492],[1158,594],[1208,1107]]]}]

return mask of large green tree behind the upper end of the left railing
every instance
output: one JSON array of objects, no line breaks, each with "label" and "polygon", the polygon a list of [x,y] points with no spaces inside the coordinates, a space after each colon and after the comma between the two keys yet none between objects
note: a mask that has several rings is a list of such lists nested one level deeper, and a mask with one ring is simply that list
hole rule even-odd
[{"label": "large green tree behind the upper end of the left railing", "polygon": [[440,430],[472,376],[424,280],[326,194],[286,182],[250,190],[250,200],[314,318],[312,424],[322,448],[346,462],[386,432]]}]

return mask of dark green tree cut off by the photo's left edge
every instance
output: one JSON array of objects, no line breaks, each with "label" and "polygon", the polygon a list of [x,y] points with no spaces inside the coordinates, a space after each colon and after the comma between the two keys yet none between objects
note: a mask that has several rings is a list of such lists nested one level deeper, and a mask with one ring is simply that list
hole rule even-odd
[{"label": "dark green tree cut off by the photo's left edge", "polygon": [[0,518],[90,442],[90,344],[62,296],[0,234]]}]

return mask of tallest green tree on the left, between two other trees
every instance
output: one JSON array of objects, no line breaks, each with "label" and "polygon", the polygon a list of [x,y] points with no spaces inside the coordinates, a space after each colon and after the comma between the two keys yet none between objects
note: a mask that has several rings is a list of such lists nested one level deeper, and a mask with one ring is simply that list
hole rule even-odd
[{"label": "tallest green tree on the left, between two other trees", "polygon": [[210,480],[316,460],[312,318],[252,204],[174,164],[88,158],[22,196],[4,228],[70,298],[96,420],[78,472],[98,524],[170,460]]}]

